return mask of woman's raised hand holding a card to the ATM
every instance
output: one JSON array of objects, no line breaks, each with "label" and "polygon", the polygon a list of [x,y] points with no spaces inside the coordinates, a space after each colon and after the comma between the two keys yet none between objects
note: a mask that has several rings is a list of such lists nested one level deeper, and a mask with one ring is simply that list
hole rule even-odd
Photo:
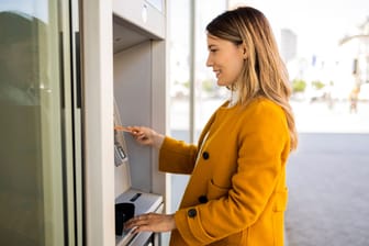
[{"label": "woman's raised hand holding a card to the ATM", "polygon": [[142,145],[154,146],[160,148],[164,135],[158,134],[154,130],[145,126],[128,126],[132,136]]}]

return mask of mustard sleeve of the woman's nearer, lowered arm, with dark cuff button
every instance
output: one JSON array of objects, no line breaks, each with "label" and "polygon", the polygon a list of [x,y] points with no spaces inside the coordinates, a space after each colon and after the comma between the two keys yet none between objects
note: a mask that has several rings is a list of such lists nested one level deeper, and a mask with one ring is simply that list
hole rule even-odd
[{"label": "mustard sleeve of the woman's nearer, lowered arm, with dark cuff button", "polygon": [[177,228],[189,245],[206,245],[249,227],[275,192],[289,153],[284,113],[261,102],[248,111],[243,124],[237,171],[226,195],[175,214]]}]

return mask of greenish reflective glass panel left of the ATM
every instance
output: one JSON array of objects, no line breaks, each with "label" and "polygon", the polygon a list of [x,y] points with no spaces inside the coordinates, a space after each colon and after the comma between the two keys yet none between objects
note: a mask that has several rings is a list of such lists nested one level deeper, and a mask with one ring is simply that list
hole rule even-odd
[{"label": "greenish reflective glass panel left of the ATM", "polygon": [[0,3],[0,245],[64,245],[57,10]]}]

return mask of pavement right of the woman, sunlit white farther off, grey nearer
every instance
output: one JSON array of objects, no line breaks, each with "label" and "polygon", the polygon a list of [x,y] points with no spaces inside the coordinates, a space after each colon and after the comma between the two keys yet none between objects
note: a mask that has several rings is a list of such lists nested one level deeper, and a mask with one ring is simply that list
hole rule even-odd
[{"label": "pavement right of the woman, sunlit white farther off, grey nearer", "polygon": [[287,166],[288,246],[369,245],[369,103],[292,103],[300,145]]}]

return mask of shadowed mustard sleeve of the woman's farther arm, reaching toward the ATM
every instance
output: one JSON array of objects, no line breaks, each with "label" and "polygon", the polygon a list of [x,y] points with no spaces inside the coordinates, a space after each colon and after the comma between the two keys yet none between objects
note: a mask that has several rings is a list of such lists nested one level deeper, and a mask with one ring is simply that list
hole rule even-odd
[{"label": "shadowed mustard sleeve of the woman's farther arm, reaching toward the ATM", "polygon": [[172,174],[191,174],[197,153],[195,145],[166,137],[159,152],[159,170]]}]

